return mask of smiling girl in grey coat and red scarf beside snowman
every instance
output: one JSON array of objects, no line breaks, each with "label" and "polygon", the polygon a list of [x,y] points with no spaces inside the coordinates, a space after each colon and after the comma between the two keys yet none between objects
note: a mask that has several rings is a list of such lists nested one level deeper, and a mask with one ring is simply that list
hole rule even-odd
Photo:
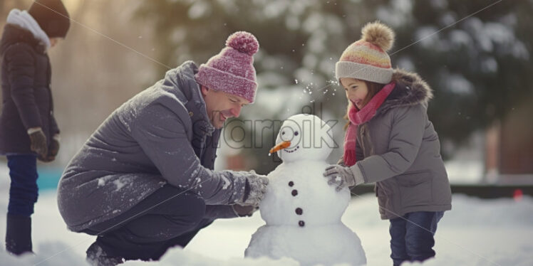
[{"label": "smiling girl in grey coat and red scarf beside snowman", "polygon": [[346,90],[349,122],[344,155],[328,166],[328,183],[376,183],[379,211],[390,220],[394,265],[435,256],[435,230],[451,209],[440,143],[428,120],[430,87],[417,74],[393,70],[386,53],[394,33],[379,22],[363,27],[336,63],[336,78]]}]

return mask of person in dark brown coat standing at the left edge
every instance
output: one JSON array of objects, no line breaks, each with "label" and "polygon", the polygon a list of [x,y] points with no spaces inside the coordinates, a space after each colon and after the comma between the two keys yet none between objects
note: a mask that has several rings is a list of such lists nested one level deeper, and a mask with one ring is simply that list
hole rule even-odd
[{"label": "person in dark brown coat standing at the left edge", "polygon": [[59,151],[47,51],[65,38],[71,24],[60,0],[34,1],[28,11],[13,9],[6,22],[0,43],[0,154],[7,156],[11,177],[6,251],[21,255],[32,252],[37,159],[53,161]]}]

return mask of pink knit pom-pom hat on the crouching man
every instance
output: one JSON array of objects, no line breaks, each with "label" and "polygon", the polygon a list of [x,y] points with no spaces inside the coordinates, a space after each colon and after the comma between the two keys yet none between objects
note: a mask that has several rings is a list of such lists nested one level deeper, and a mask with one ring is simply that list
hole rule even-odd
[{"label": "pink knit pom-pom hat on the crouching man", "polygon": [[252,33],[233,33],[227,38],[226,48],[200,65],[195,75],[197,83],[254,102],[257,78],[252,55],[257,50],[259,43]]}]

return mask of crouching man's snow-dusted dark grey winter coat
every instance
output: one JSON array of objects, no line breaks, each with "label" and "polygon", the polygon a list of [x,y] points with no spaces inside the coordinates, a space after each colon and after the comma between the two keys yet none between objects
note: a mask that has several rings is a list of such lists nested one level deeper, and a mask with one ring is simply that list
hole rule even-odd
[{"label": "crouching man's snow-dusted dark grey winter coat", "polygon": [[73,157],[58,185],[70,230],[118,216],[165,183],[235,216],[227,205],[243,198],[245,177],[212,171],[220,130],[209,122],[195,73],[190,61],[169,70],[105,119]]}]

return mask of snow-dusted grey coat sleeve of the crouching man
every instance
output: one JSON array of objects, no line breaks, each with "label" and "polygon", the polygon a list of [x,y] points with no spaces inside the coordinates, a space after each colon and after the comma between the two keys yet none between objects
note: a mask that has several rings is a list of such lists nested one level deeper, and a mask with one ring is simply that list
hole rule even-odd
[{"label": "snow-dusted grey coat sleeve of the crouching man", "polygon": [[175,112],[158,103],[139,112],[133,138],[168,183],[190,189],[211,205],[232,204],[244,197],[246,176],[202,166]]}]

